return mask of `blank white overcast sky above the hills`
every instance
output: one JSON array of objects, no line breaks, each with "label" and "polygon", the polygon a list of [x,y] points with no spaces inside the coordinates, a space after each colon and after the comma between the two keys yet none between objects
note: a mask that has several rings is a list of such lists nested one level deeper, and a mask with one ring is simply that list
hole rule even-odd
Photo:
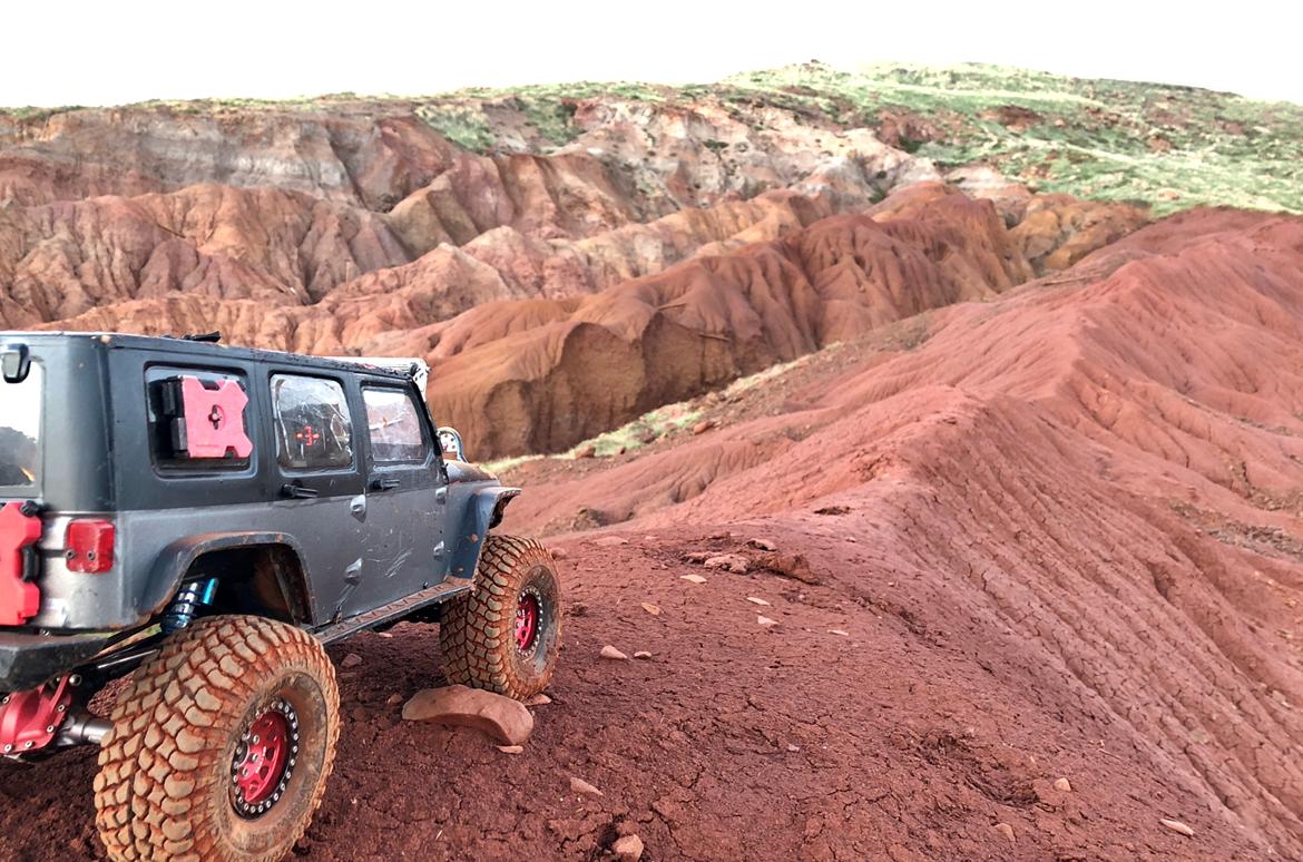
[{"label": "blank white overcast sky above the hills", "polygon": [[8,0],[0,105],[709,82],[810,59],[971,60],[1303,103],[1300,25],[1298,0]]}]

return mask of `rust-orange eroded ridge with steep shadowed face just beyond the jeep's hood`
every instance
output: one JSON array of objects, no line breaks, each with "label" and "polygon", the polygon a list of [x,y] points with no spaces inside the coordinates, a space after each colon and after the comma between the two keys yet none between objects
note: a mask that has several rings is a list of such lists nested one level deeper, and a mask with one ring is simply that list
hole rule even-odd
[{"label": "rust-orange eroded ridge with steep shadowed face just beyond the jeep's hood", "polygon": [[909,197],[881,224],[830,217],[580,302],[485,306],[431,327],[431,406],[483,457],[564,449],[661,404],[1029,276],[990,204],[942,186]]}]

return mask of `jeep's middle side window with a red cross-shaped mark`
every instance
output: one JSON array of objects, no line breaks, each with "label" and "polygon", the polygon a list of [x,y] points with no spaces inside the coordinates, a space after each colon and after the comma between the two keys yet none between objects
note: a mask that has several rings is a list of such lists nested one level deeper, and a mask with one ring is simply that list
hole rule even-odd
[{"label": "jeep's middle side window with a red cross-shaped mark", "polygon": [[276,374],[276,460],[287,470],[330,470],[353,464],[353,423],[344,387],[335,380]]}]

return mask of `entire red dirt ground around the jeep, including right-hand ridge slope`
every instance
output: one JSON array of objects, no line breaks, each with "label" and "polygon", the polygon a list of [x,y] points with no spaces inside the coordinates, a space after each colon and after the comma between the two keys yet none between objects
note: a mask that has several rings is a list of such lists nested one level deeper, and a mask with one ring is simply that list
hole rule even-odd
[{"label": "entire red dirt ground around the jeep, including right-hand ridge slope", "polygon": [[[1191,212],[925,323],[508,474],[564,553],[554,702],[502,754],[399,717],[431,626],[344,646],[300,852],[1303,858],[1303,220]],[[7,771],[0,857],[98,854],[91,775]]]}]

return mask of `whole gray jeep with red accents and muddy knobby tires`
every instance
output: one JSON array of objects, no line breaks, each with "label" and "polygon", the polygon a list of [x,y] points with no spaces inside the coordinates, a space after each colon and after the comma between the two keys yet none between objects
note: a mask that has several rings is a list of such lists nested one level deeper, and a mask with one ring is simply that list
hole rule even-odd
[{"label": "whole gray jeep with red accents and muddy knobby tires", "polygon": [[328,643],[437,620],[448,681],[515,698],[560,646],[555,563],[490,534],[520,491],[431,422],[422,365],[206,340],[0,332],[0,753],[100,745],[115,859],[293,848]]}]

